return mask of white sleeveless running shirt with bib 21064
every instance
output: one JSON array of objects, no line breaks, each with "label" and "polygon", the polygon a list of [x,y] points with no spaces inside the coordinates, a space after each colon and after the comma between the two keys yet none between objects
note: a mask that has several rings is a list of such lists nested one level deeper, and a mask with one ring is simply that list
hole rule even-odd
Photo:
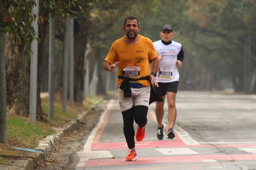
[{"label": "white sleeveless running shirt with bib 21064", "polygon": [[164,54],[160,61],[156,82],[173,82],[179,81],[179,72],[176,65],[177,55],[181,51],[181,44],[171,41],[171,44],[165,45],[161,40],[153,42],[157,55]]}]

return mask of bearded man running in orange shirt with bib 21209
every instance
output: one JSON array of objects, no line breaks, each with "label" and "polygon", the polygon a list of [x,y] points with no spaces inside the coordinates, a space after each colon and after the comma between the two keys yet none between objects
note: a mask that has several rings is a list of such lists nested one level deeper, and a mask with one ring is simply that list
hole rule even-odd
[{"label": "bearded man running in orange shirt with bib 21209", "polygon": [[[138,18],[127,17],[123,27],[126,36],[112,44],[103,63],[104,70],[111,73],[119,66],[117,92],[124,121],[124,136],[129,148],[126,161],[135,161],[138,158],[133,123],[135,121],[138,124],[136,140],[143,140],[146,136],[147,112],[154,92],[151,83],[158,86],[155,76],[159,59],[152,41],[138,34],[140,29]],[[151,74],[149,59],[152,60]]]}]

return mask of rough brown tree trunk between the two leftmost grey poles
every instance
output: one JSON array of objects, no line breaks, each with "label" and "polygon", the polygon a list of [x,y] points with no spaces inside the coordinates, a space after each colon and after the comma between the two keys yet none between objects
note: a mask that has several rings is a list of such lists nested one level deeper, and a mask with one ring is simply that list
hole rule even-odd
[{"label": "rough brown tree trunk between the two leftmost grey poles", "polygon": [[30,57],[15,42],[6,44],[6,98],[9,114],[28,117]]}]

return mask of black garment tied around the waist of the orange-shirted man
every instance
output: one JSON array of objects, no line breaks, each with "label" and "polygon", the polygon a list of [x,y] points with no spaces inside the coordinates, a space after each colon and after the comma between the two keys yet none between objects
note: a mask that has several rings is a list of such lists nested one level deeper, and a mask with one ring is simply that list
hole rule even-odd
[{"label": "black garment tied around the waist of the orange-shirted man", "polygon": [[122,84],[120,85],[119,89],[124,91],[124,97],[132,97],[132,91],[131,91],[131,87],[130,87],[130,81],[138,81],[138,80],[147,80],[150,83],[150,98],[149,98],[149,104],[151,104],[152,102],[163,102],[164,100],[158,96],[158,94],[156,94],[156,92],[154,91],[154,88],[152,86],[151,80],[149,78],[149,76],[145,76],[142,78],[138,78],[138,79],[131,79],[131,78],[127,78],[124,76],[118,76],[119,79],[124,79],[124,81],[122,82]]}]

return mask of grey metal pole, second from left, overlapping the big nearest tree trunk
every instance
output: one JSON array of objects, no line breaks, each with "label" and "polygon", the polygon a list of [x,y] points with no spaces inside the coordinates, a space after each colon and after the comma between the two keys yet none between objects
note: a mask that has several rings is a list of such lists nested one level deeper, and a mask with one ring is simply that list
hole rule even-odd
[{"label": "grey metal pole, second from left, overlapping the big nearest tree trunk", "polygon": [[[36,6],[32,7],[32,13],[39,13],[39,1],[36,0]],[[38,37],[37,20],[32,22],[32,27]],[[30,58],[30,95],[29,95],[29,120],[31,124],[36,124],[36,91],[37,91],[37,69],[38,69],[38,41],[34,39],[31,44],[33,54]]]}]

